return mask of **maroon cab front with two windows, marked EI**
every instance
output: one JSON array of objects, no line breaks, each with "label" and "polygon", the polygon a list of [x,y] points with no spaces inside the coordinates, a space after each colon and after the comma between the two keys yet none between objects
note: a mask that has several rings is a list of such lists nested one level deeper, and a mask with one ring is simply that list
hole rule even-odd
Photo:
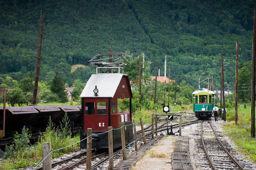
[{"label": "maroon cab front with two windows, marked EI", "polygon": [[84,130],[87,128],[92,128],[92,131],[108,130],[108,99],[84,99],[84,111]]}]

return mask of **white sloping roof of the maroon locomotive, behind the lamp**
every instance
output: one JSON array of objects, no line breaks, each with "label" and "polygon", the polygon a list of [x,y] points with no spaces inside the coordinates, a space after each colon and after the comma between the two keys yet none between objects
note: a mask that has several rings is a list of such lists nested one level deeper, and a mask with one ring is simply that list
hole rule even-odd
[{"label": "white sloping roof of the maroon locomotive, behind the lamp", "polygon": [[[92,74],[87,81],[80,97],[114,97],[116,89],[125,74]],[[97,85],[99,95],[94,96],[93,90]]]}]

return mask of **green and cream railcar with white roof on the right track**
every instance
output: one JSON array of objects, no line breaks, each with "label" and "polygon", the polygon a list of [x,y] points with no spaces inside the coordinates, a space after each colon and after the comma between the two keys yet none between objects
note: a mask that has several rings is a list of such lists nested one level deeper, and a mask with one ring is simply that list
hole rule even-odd
[{"label": "green and cream railcar with white roof on the right track", "polygon": [[193,111],[196,117],[200,119],[209,119],[212,117],[212,108],[214,107],[214,92],[200,88],[193,94]]}]

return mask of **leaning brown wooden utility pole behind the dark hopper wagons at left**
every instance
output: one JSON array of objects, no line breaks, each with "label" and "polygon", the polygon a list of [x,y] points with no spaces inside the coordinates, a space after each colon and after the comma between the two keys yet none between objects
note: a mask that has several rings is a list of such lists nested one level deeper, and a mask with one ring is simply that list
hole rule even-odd
[{"label": "leaning brown wooden utility pole behind the dark hopper wagons at left", "polygon": [[37,48],[37,57],[36,57],[36,77],[35,77],[35,85],[34,85],[34,92],[33,92],[33,98],[32,98],[32,105],[36,104],[36,94],[37,94],[37,86],[38,86],[38,79],[39,79],[40,60],[41,60],[43,24],[44,24],[44,11],[41,10],[40,24],[39,24],[38,48]]}]

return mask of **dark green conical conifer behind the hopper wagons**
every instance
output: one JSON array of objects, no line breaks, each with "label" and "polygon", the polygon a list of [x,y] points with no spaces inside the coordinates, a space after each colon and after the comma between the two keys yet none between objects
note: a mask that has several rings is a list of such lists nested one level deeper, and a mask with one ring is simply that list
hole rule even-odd
[{"label": "dark green conical conifer behind the hopper wagons", "polygon": [[67,102],[67,92],[64,92],[65,87],[63,80],[60,76],[56,75],[54,78],[49,82],[50,90],[52,93],[56,93],[60,99],[60,102],[64,103]]}]

